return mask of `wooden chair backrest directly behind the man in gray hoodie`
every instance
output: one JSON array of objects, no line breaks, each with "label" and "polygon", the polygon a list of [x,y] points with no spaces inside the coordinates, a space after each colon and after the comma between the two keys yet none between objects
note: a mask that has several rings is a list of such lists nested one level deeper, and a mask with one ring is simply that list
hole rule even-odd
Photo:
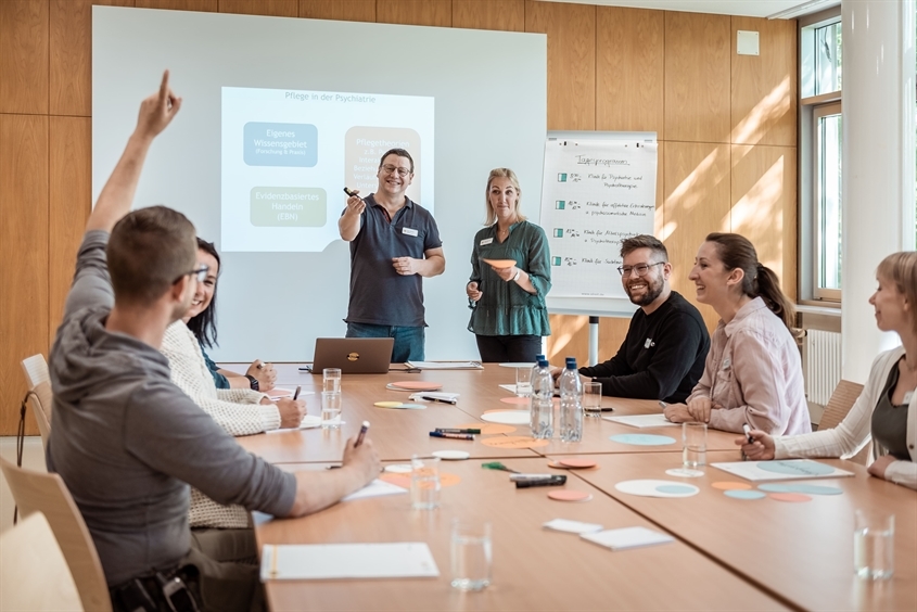
[{"label": "wooden chair backrest directly behind the man in gray hoodie", "polygon": [[89,530],[58,474],[33,472],[0,458],[0,470],[23,517],[42,512],[54,531],[86,610],[112,610],[105,574]]}]

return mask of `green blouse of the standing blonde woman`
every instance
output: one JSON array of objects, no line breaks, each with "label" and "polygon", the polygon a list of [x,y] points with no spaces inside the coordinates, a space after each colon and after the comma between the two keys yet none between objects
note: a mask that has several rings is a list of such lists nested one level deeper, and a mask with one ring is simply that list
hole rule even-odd
[{"label": "green blouse of the standing blonde woman", "polygon": [[[515,266],[528,273],[535,293],[504,281],[482,258],[515,259]],[[469,282],[477,282],[483,292],[481,299],[469,304],[469,331],[479,335],[551,334],[545,306],[545,295],[551,290],[550,251],[544,230],[535,224],[513,224],[502,242],[497,240],[496,224],[479,231],[471,250]]]}]

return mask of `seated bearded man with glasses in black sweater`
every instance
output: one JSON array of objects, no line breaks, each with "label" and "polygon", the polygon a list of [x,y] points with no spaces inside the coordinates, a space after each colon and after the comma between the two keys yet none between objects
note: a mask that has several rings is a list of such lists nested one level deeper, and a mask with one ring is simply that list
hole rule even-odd
[{"label": "seated bearded man with glasses in black sweater", "polygon": [[[584,381],[602,384],[602,395],[685,401],[703,373],[710,334],[698,309],[672,291],[672,264],[665,246],[651,235],[621,243],[617,268],[624,291],[639,308],[617,354],[591,368]],[[560,375],[555,369],[555,377]]]}]

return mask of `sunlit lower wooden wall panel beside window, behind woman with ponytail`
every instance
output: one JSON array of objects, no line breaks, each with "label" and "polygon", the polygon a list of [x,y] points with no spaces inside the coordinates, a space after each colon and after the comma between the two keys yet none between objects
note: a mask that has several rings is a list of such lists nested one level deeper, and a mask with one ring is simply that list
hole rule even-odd
[{"label": "sunlit lower wooden wall panel beside window, behind woman with ponytail", "polygon": [[733,145],[731,228],[797,297],[797,149]]}]

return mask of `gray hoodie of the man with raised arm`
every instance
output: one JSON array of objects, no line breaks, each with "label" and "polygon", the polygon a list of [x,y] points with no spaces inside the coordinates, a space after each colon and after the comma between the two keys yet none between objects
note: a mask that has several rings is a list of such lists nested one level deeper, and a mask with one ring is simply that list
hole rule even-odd
[{"label": "gray hoodie of the man with raised arm", "polygon": [[107,238],[87,232],[51,350],[47,460],[115,586],[188,552],[189,484],[220,503],[285,515],[296,483],[244,451],[176,387],[156,348],[105,329],[113,304]]}]

